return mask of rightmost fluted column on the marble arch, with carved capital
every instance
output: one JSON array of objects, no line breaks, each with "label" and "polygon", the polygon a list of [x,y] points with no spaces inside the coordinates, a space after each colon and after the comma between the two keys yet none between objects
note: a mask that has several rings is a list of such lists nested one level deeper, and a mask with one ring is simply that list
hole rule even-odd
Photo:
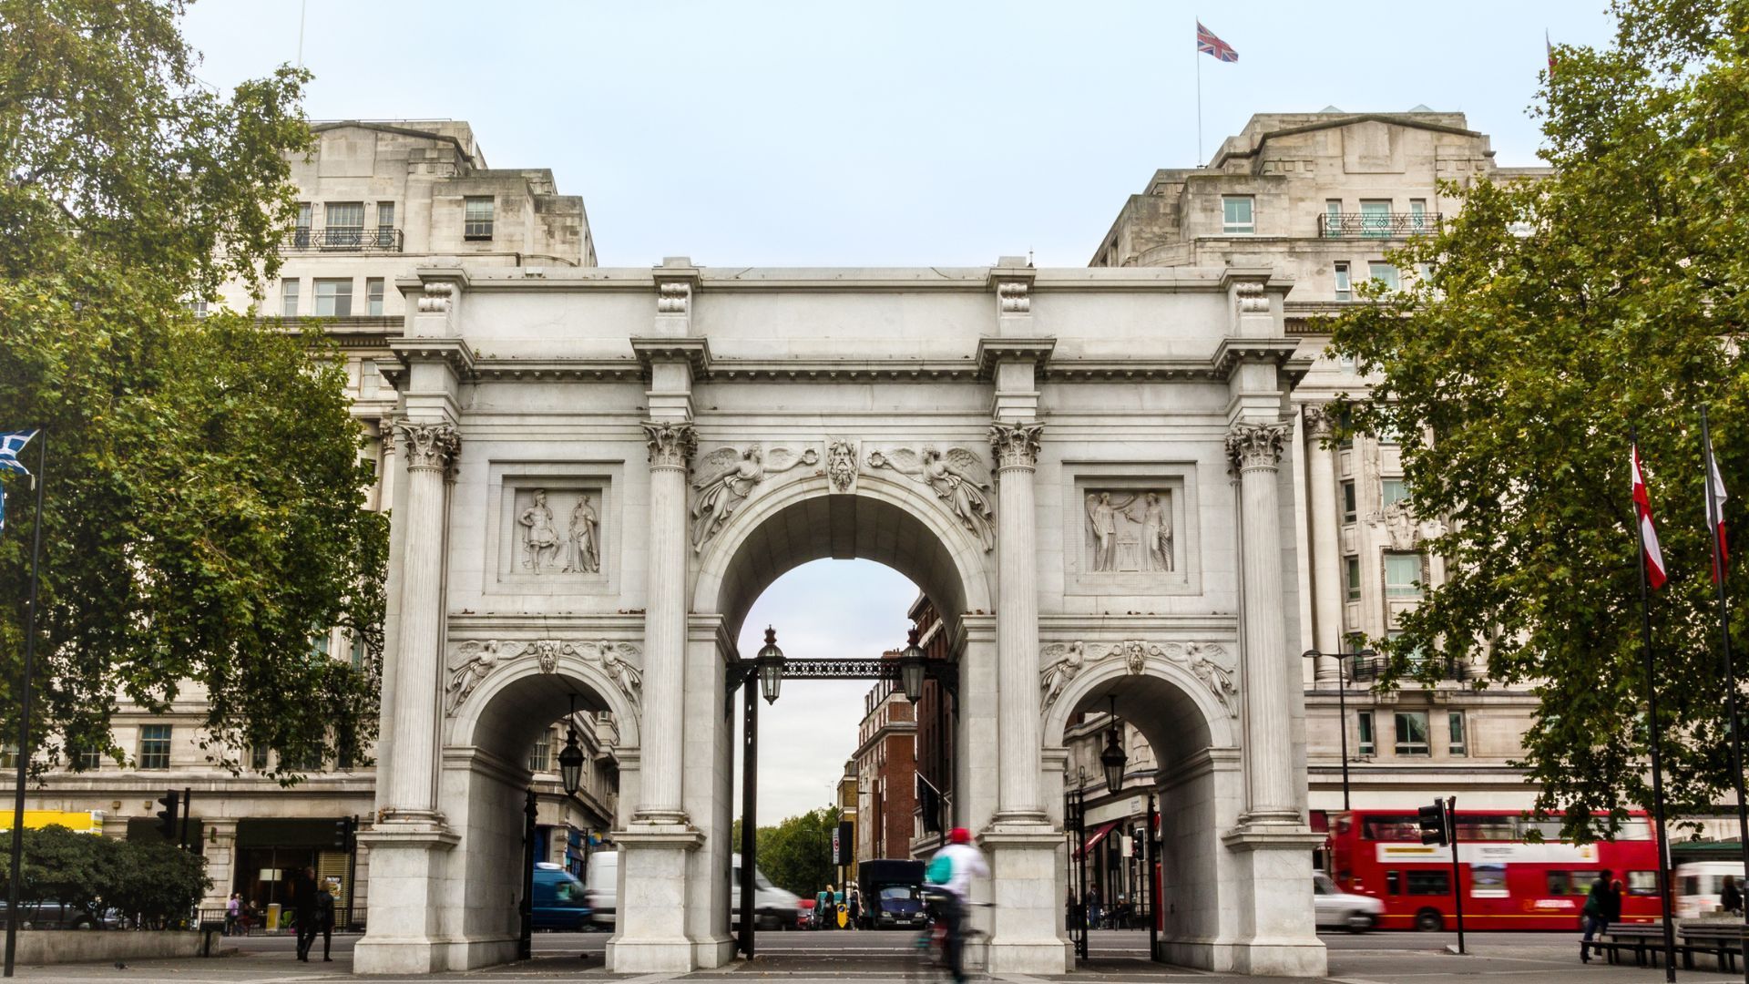
[{"label": "rightmost fluted column on the marble arch, with carved capital", "polygon": [[[1245,748],[1251,821],[1298,823],[1294,807],[1293,700],[1300,653],[1286,651],[1282,629],[1282,513],[1277,490],[1287,424],[1237,422],[1226,434],[1238,473],[1245,592]],[[1291,671],[1291,672],[1289,672]]]}]

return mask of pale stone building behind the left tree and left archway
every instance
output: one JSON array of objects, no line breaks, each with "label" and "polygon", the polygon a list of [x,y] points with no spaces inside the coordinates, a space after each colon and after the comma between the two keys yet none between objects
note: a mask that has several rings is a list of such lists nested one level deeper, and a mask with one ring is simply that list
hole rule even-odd
[{"label": "pale stone building behind the left tree and left archway", "polygon": [[[320,319],[346,352],[353,417],[369,438],[366,455],[378,471],[371,508],[394,501],[395,466],[390,420],[397,394],[385,369],[399,366],[390,341],[408,315],[395,287],[437,257],[470,264],[518,268],[537,277],[544,268],[595,264],[582,200],[556,193],[542,168],[491,170],[460,121],[317,123],[317,149],[292,161],[299,189],[299,221],[282,245],[283,266],[273,284],[229,284],[222,303],[252,305],[262,317],[287,322]],[[360,660],[341,630],[311,639],[324,658]],[[245,769],[229,774],[199,748],[205,704],[198,686],[185,688],[166,714],[122,702],[114,737],[126,767],[91,760],[84,770],[49,772],[28,793],[30,809],[96,811],[107,835],[156,837],[156,798],[166,790],[191,790],[198,840],[213,879],[205,905],[222,905],[231,891],[266,907],[283,896],[278,872],[304,865],[341,882],[341,905],[355,905],[362,921],[369,896],[369,849],[336,837],[336,823],[359,818],[364,830],[376,809],[376,770],[350,763],[311,763],[296,786],[280,786],[266,770],[273,749],[248,749]],[[586,753],[582,790],[563,797],[558,751],[565,723],[553,723],[507,763],[526,767],[540,793],[539,858],[581,870],[617,809],[617,723],[579,713],[575,728]],[[371,749],[373,753],[376,749]],[[519,832],[518,832],[519,835]],[[346,917],[345,912],[341,916]]]}]

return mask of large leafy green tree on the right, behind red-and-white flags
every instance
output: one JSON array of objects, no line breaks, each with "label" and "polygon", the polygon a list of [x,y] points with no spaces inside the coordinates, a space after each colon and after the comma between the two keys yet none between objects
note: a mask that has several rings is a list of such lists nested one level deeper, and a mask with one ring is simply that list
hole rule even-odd
[{"label": "large leafy green tree on the right, behind red-and-white flags", "polygon": [[[1555,173],[1446,186],[1460,214],[1396,256],[1408,289],[1334,322],[1376,383],[1348,431],[1403,434],[1448,581],[1376,641],[1399,676],[1485,651],[1539,699],[1522,765],[1565,832],[1648,805],[1628,432],[1639,431],[1670,583],[1653,650],[1672,812],[1730,790],[1698,410],[1749,492],[1749,2],[1618,0],[1604,49],[1557,49],[1536,112]],[[1740,501],[1740,499],[1739,499]],[[1732,501],[1728,522],[1740,524]],[[1739,527],[1742,529],[1742,527]],[[1735,629],[1744,573],[1728,581]],[[1436,658],[1411,662],[1417,653]],[[1749,653],[1746,653],[1749,655]],[[1749,660],[1739,662],[1744,667]],[[1417,671],[1417,665],[1420,667]]]}]

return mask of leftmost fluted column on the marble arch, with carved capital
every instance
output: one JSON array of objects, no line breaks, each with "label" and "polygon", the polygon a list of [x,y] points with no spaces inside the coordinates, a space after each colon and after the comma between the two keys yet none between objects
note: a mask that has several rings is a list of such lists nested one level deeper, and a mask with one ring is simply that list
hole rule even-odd
[{"label": "leftmost fluted column on the marble arch, with carved capital", "polygon": [[408,459],[406,553],[401,566],[401,636],[395,646],[395,742],[388,774],[392,814],[430,814],[442,662],[444,473],[462,450],[451,424],[395,424]]}]

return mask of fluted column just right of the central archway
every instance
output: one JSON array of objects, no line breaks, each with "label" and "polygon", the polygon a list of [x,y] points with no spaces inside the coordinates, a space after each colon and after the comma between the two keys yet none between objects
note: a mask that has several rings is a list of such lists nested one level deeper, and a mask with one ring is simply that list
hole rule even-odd
[{"label": "fluted column just right of the central archway", "polygon": [[1044,424],[992,424],[997,467],[997,819],[1042,819],[1032,478]]}]

